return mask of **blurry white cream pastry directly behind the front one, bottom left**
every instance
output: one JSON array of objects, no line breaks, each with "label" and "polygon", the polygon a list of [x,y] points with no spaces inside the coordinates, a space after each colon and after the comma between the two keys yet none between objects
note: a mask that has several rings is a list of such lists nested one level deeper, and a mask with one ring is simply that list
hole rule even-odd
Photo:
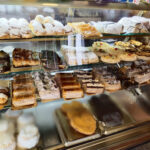
[{"label": "blurry white cream pastry directly behind the front one, bottom left", "polygon": [[33,114],[24,113],[24,114],[20,115],[19,118],[17,119],[18,131],[20,131],[21,129],[23,129],[27,125],[32,125],[34,123],[35,123],[35,119],[34,119]]}]

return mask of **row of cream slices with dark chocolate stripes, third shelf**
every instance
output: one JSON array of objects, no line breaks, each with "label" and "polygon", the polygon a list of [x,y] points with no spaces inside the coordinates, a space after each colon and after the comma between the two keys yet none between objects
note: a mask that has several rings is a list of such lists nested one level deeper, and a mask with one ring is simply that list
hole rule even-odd
[{"label": "row of cream slices with dark chocolate stripes, third shelf", "polygon": [[94,78],[92,71],[75,71],[77,79],[80,81],[86,94],[101,94],[104,92],[104,85]]}]

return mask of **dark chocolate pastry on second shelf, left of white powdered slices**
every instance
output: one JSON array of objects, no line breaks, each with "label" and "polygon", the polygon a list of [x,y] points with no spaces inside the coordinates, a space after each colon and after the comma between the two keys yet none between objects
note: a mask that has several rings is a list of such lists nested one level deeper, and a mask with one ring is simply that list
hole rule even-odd
[{"label": "dark chocolate pastry on second shelf, left of white powdered slices", "polygon": [[65,68],[65,64],[63,60],[54,51],[42,50],[40,59],[41,59],[42,66],[47,71],[59,70]]}]

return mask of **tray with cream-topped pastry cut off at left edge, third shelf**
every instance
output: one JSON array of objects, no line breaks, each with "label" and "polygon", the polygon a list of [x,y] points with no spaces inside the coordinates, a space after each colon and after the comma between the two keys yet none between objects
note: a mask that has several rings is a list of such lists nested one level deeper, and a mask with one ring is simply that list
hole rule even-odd
[{"label": "tray with cream-topped pastry cut off at left edge, third shelf", "polygon": [[10,80],[0,80],[0,109],[11,105]]}]

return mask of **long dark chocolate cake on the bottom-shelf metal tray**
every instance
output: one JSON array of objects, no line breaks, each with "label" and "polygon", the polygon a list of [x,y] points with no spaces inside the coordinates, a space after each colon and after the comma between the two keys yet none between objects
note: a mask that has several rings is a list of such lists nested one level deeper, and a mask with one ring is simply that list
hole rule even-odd
[{"label": "long dark chocolate cake on the bottom-shelf metal tray", "polygon": [[115,127],[123,124],[123,114],[119,108],[111,101],[110,97],[101,94],[99,97],[92,97],[89,101],[97,119],[106,127]]}]

